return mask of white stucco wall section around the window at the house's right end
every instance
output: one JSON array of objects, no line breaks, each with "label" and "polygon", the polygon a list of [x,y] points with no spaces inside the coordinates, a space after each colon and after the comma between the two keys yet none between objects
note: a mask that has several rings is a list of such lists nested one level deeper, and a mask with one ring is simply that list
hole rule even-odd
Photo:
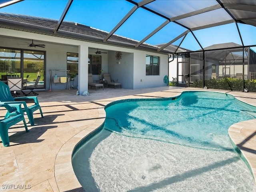
[{"label": "white stucco wall section around the window at the house's right end", "polygon": [[[108,73],[112,80],[122,83],[122,88],[141,89],[166,86],[163,79],[168,75],[168,55],[134,50],[132,53],[122,52],[120,64],[116,61],[115,52],[108,52]],[[160,75],[146,76],[146,55],[160,57]]]}]

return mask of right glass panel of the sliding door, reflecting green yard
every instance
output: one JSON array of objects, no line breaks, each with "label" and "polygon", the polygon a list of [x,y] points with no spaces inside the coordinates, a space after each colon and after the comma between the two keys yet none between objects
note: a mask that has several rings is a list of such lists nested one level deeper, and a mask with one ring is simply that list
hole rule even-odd
[{"label": "right glass panel of the sliding door, reflecting green yard", "polygon": [[34,85],[36,78],[40,76],[37,88],[45,88],[44,86],[44,51],[23,51],[23,78],[27,77],[27,86]]}]

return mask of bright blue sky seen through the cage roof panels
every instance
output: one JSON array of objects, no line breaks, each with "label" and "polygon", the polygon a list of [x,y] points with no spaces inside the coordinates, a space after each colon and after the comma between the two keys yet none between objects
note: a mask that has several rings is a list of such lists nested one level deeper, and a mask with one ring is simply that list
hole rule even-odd
[{"label": "bright blue sky seen through the cage roof panels", "polygon": [[[67,2],[67,0],[24,0],[22,2],[0,8],[0,12],[59,20]],[[177,3],[178,1],[174,2]],[[188,4],[188,2],[192,1],[187,1],[186,3]],[[187,8],[189,9],[192,5],[195,6],[195,4],[200,4],[200,6],[203,7],[204,3],[209,2],[212,4],[215,1],[194,1],[193,4],[190,4],[190,7],[187,5]],[[162,3],[164,3],[164,1]],[[64,20],[78,22],[80,24],[110,32],[133,6],[133,4],[124,0],[74,0]],[[185,4],[183,6],[185,6]],[[115,34],[140,41],[165,21],[166,20],[164,18],[139,8],[115,32]],[[256,38],[254,38],[256,28],[245,24],[239,24],[239,27],[244,44],[256,44]],[[149,44],[165,44],[176,38],[176,36],[184,31],[186,31],[186,29],[174,22],[170,22],[146,42]],[[234,23],[227,24],[225,26],[197,30],[194,31],[194,34],[202,43],[203,47],[227,42],[241,44],[236,30],[236,25]],[[173,44],[179,45],[180,41],[181,39]],[[181,46],[190,50],[200,49],[200,46],[197,44],[191,33],[186,36]]]}]

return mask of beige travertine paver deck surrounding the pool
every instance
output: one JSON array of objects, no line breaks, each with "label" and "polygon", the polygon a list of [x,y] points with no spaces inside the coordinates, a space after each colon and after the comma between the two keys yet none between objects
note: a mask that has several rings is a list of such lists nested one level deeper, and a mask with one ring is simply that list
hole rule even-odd
[{"label": "beige travertine paver deck surrounding the pool", "polygon": [[[10,146],[0,143],[0,191],[84,191],[72,169],[71,155],[74,146],[104,122],[104,106],[126,98],[172,97],[184,90],[203,89],[106,88],[90,89],[90,96],[76,96],[76,90],[40,92],[38,100],[45,117],[40,118],[37,112],[35,125],[28,124],[30,132],[26,133],[22,124],[18,124],[9,130]],[[255,93],[219,92],[256,106]],[[4,114],[5,110],[0,110],[1,118]],[[255,178],[256,120],[234,124],[229,134],[248,160]]]}]

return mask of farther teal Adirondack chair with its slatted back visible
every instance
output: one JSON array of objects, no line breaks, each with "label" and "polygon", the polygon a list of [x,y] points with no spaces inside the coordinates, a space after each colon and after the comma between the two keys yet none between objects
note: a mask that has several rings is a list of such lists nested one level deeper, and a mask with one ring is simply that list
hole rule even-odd
[{"label": "farther teal Adirondack chair with its slatted back visible", "polygon": [[[18,100],[33,99],[34,104],[31,106],[27,106],[26,101],[16,101],[17,99]],[[26,112],[31,125],[35,124],[34,117],[33,117],[34,111],[39,109],[41,117],[44,117],[41,106],[39,105],[39,102],[36,96],[25,96],[25,97],[13,98],[10,92],[9,86],[3,82],[0,82],[0,104],[23,104],[22,111]],[[8,118],[10,116],[11,116],[10,112],[7,112],[5,118]]]}]

